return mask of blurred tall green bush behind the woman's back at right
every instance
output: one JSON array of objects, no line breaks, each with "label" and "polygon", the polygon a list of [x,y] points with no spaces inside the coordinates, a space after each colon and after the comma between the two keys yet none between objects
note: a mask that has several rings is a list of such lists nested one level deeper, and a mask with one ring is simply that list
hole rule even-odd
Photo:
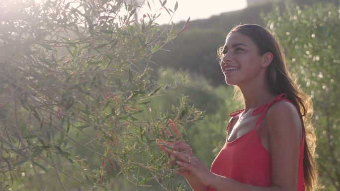
[{"label": "blurred tall green bush behind the woman's back at right", "polygon": [[318,135],[316,159],[326,190],[340,190],[340,6],[287,4],[267,15],[280,39],[287,64],[312,96]]}]

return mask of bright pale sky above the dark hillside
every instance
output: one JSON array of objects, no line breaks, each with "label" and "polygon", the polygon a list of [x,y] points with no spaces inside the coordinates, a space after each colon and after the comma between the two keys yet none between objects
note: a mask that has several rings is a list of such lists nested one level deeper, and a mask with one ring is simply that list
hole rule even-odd
[{"label": "bright pale sky above the dark hillside", "polygon": [[[161,8],[160,0],[148,0],[152,12],[161,12],[161,16],[156,20],[159,24],[166,24],[170,20],[170,15]],[[164,0],[162,0],[163,2]],[[178,21],[209,18],[212,15],[219,15],[222,12],[240,10],[247,7],[247,0],[167,0],[165,6],[174,10],[174,6],[178,2],[172,21]],[[145,0],[145,4],[141,9],[141,13],[150,12],[150,8]]]}]

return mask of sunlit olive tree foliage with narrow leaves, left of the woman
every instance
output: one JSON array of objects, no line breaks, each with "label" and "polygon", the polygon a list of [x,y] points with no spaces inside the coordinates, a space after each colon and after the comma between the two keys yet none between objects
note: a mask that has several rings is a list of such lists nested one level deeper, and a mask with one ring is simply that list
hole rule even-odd
[{"label": "sunlit olive tree foliage with narrow leaves, left of the woman", "polygon": [[[170,16],[177,7],[160,3]],[[1,189],[27,189],[20,177],[43,182],[53,171],[60,187],[49,190],[105,189],[115,172],[182,190],[155,140],[173,138],[160,133],[168,118],[181,127],[203,113],[184,95],[169,113],[148,104],[185,83],[162,85],[149,65],[186,25],[161,29],[158,14],[138,18],[140,6],[125,0],[6,0],[0,9]]]}]

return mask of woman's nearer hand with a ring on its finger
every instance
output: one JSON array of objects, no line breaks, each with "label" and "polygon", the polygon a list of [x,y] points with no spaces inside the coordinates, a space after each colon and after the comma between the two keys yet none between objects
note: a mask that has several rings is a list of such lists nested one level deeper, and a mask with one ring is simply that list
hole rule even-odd
[{"label": "woman's nearer hand with a ring on its finger", "polygon": [[189,173],[204,186],[209,186],[214,181],[214,174],[211,173],[196,157],[185,153],[172,151],[170,155],[177,157],[175,162],[182,171]]}]

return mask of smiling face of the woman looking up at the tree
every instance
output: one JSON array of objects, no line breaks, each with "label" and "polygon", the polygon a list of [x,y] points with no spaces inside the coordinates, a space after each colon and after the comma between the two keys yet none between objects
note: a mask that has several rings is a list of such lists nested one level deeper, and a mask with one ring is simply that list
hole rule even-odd
[{"label": "smiling face of the woman looking up at the tree", "polygon": [[[253,40],[239,32],[231,34],[223,48],[221,69],[229,85],[243,86],[263,73],[262,56]],[[262,71],[262,72],[261,72]]]}]

